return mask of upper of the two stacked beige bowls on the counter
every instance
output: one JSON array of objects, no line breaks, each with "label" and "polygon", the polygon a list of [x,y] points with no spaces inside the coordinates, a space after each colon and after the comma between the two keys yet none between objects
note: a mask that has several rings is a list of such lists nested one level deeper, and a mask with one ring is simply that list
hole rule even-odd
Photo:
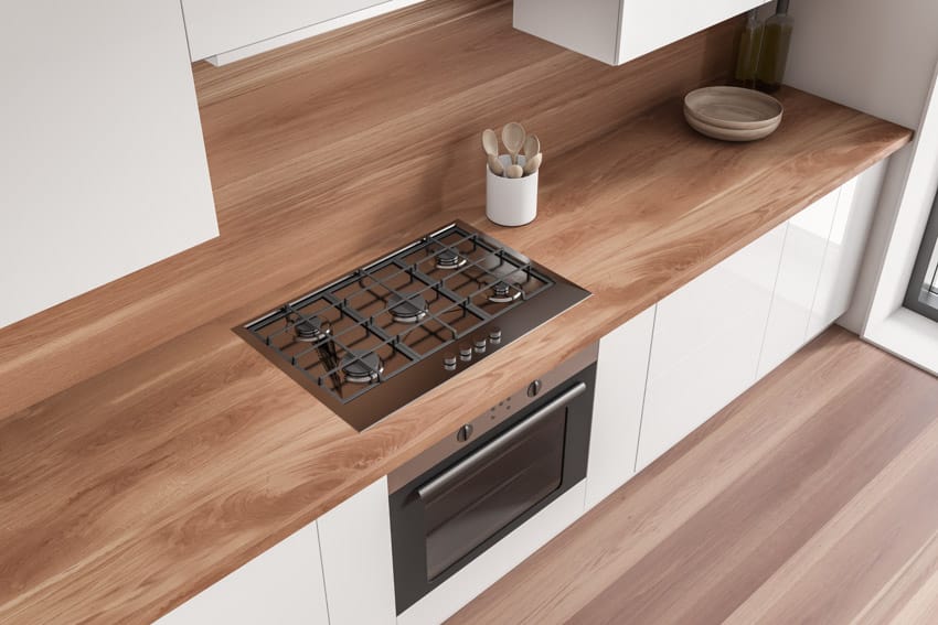
[{"label": "upper of the two stacked beige bowls on the counter", "polygon": [[742,87],[704,87],[684,96],[684,116],[735,130],[778,128],[785,107],[774,97]]}]

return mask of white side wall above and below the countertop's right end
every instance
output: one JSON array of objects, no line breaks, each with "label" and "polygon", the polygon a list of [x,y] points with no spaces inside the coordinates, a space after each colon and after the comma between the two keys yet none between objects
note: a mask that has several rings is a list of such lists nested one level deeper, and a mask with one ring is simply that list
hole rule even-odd
[{"label": "white side wall above and below the countertop's right end", "polygon": [[[792,0],[786,83],[918,129],[938,62],[935,0]],[[860,333],[905,188],[910,148],[886,174],[854,303],[841,324]]]}]

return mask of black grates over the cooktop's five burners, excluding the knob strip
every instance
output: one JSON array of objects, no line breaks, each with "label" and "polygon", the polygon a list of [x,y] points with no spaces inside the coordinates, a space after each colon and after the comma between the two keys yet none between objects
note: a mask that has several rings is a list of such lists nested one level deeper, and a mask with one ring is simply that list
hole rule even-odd
[{"label": "black grates over the cooktop's five burners, excluding the knob strip", "polygon": [[555,281],[460,224],[285,304],[245,330],[348,403]]}]

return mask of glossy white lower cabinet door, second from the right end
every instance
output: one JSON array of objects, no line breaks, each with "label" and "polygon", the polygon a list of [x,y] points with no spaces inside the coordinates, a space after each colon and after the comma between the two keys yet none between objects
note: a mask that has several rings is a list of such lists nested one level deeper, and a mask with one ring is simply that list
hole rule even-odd
[{"label": "glossy white lower cabinet door, second from the right end", "polygon": [[841,190],[788,222],[757,377],[779,366],[807,342],[808,322],[821,278],[824,250]]}]

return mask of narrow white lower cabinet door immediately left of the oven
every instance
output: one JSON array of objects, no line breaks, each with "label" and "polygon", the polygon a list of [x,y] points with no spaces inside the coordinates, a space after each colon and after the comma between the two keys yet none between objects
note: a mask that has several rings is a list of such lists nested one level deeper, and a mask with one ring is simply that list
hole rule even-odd
[{"label": "narrow white lower cabinet door immediately left of the oven", "polygon": [[395,622],[387,479],[317,521],[331,625]]}]

